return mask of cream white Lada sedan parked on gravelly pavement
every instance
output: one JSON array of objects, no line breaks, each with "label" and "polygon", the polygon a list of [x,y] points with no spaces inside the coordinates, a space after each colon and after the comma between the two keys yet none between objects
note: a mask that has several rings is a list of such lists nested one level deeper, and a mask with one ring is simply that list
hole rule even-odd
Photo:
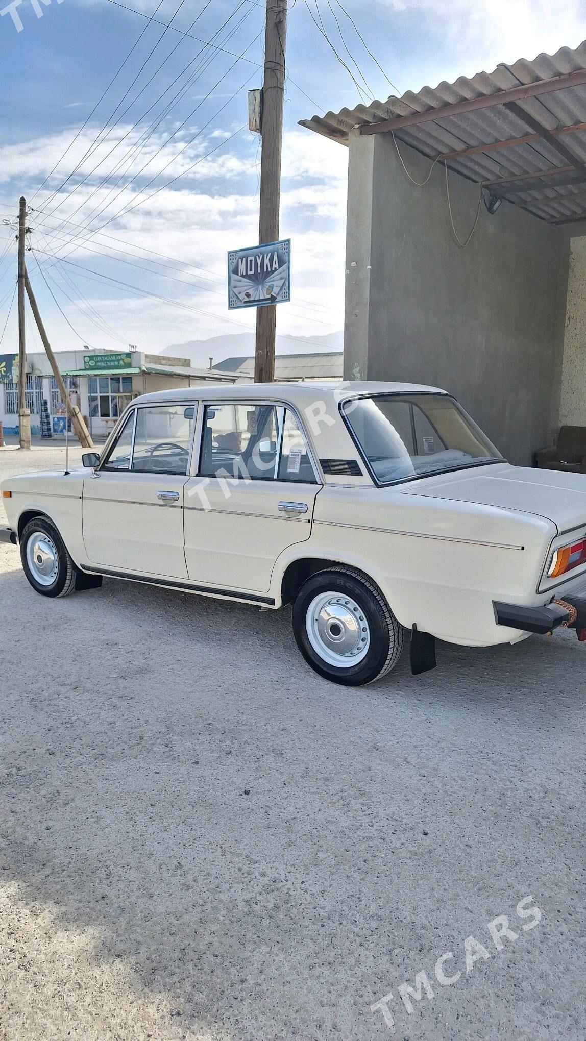
[{"label": "cream white Lada sedan parked on gravelly pavement", "polygon": [[410,633],[486,646],[586,638],[586,478],[509,465],[443,390],[198,386],[131,403],[86,469],[2,484],[31,586],[102,578],[269,608],[337,683],[381,679]]}]

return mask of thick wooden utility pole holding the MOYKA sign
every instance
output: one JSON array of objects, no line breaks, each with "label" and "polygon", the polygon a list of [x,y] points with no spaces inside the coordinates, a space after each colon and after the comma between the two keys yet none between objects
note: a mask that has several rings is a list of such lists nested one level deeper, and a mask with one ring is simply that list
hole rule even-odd
[{"label": "thick wooden utility pole holding the MOYKA sign", "polygon": [[[262,151],[260,159],[259,246],[274,243],[279,237],[286,31],[287,0],[266,0],[264,76],[260,122]],[[275,378],[276,330],[276,305],[263,304],[261,307],[257,307],[254,360],[256,383],[270,383]]]}]

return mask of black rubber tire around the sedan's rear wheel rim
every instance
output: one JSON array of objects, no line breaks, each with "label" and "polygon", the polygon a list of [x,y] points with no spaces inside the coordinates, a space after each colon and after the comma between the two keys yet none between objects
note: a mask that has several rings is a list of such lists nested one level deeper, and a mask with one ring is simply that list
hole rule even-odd
[{"label": "black rubber tire around the sedan's rear wheel rim", "polygon": [[[329,592],[336,596],[334,606],[339,603],[343,611],[346,596],[349,603],[353,602],[359,608],[361,612],[359,617],[365,619],[365,628],[361,631],[368,633],[368,643],[365,651],[361,652],[363,657],[355,665],[336,667],[327,657],[320,655],[310,639],[308,626],[311,628],[311,618],[307,621],[308,609],[315,603],[316,598],[322,594],[326,596]],[[333,625],[335,627],[335,619]],[[378,586],[365,575],[343,565],[319,572],[304,582],[294,604],[292,626],[297,645],[311,668],[326,680],[349,687],[359,687],[374,683],[375,680],[382,680],[394,668],[403,651],[403,627],[394,617]]]}]

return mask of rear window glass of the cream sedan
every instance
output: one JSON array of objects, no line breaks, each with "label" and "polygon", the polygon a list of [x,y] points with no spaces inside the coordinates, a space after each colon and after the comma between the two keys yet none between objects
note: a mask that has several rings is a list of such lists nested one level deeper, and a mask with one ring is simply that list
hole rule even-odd
[{"label": "rear window glass of the cream sedan", "polygon": [[341,408],[381,484],[503,460],[448,395],[377,395]]}]

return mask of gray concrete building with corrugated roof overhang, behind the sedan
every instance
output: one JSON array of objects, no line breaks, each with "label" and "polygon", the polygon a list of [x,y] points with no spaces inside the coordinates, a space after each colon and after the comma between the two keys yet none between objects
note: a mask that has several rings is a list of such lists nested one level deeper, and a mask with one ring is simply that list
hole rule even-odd
[{"label": "gray concrete building with corrugated roof overhang, behind the sedan", "polygon": [[302,125],[350,149],[345,377],[445,387],[513,463],[586,426],[586,44]]}]

